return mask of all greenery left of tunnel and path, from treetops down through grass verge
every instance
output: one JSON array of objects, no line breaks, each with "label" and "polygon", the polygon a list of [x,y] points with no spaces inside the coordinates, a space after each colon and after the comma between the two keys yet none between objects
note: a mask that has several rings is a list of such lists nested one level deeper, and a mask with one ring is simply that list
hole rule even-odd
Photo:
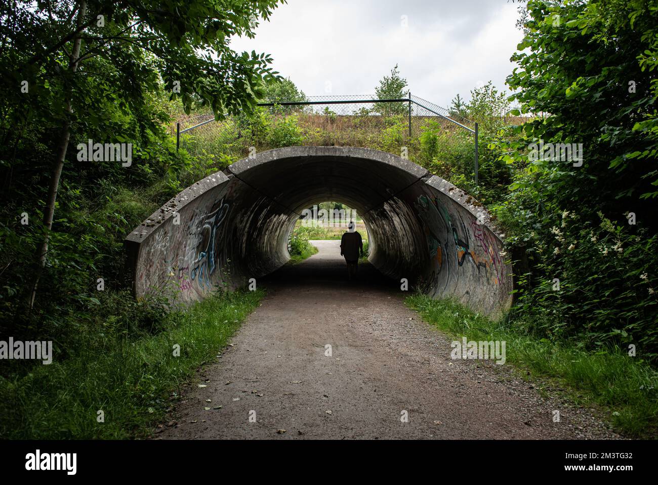
[{"label": "all greenery left of tunnel and path, from treetops down through grass verge", "polygon": [[[136,301],[122,244],[180,188],[230,163],[176,153],[168,125],[201,106],[249,113],[265,96],[272,59],[226,39],[253,36],[278,3],[2,3],[0,335],[53,341],[52,364],[2,361],[2,438],[132,436],[256,304],[260,293],[190,312]],[[122,144],[113,155],[126,158],[104,147],[85,160],[89,140]]]}]

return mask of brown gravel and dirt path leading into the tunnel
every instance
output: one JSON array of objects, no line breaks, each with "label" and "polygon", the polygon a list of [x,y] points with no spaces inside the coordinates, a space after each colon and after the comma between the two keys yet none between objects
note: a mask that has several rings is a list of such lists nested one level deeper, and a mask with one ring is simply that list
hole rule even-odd
[{"label": "brown gravel and dirt path leading into the tunnel", "polygon": [[619,438],[509,365],[452,360],[397,285],[370,265],[348,283],[339,241],[313,244],[318,254],[259,281],[263,304],[156,438]]}]

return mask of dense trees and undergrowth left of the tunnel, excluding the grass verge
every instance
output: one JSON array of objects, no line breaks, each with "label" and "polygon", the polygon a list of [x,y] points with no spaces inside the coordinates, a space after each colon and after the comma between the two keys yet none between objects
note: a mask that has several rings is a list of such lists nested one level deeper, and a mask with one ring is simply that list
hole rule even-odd
[{"label": "dense trees and undergrowth left of the tunnel, excluding the grass verge", "polygon": [[[278,3],[197,0],[157,16],[137,1],[2,4],[2,335],[68,347],[63,335],[93,318],[98,279],[124,286],[126,233],[210,165],[177,154],[166,125],[181,107],[248,112],[265,96],[272,59],[225,40],[253,35]],[[132,156],[85,161],[89,140]]]}]

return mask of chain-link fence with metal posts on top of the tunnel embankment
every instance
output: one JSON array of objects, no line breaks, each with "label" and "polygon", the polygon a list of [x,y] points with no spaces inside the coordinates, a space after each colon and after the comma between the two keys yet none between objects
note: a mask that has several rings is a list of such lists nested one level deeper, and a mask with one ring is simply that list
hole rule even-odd
[{"label": "chain-link fence with metal posts on top of the tunnel embankment", "polygon": [[429,101],[412,96],[380,100],[375,95],[308,96],[305,100],[266,100],[252,117],[215,121],[213,113],[184,115],[176,123],[176,147],[193,155],[249,155],[279,146],[367,146],[396,155],[418,148],[425,130],[470,133],[478,181],[478,125]]}]

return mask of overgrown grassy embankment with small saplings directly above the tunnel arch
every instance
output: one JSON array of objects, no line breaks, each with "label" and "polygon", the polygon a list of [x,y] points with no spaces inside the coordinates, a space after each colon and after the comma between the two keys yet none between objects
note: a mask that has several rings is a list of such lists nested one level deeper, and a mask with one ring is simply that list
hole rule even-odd
[{"label": "overgrown grassy embankment with small saplings directly above the tunnel arch", "polygon": [[[397,69],[384,76],[376,97],[406,97],[401,91],[405,80]],[[283,100],[300,100],[303,94],[286,81]],[[269,92],[270,90],[268,90]],[[274,93],[266,100],[275,100]],[[388,94],[387,94],[388,93]],[[491,204],[503,200],[512,181],[512,167],[490,149],[489,140],[511,121],[509,101],[488,82],[471,91],[463,113],[480,124],[479,185],[474,183],[474,139],[470,132],[436,116],[412,117],[409,134],[408,103],[372,103],[349,114],[337,114],[326,107],[318,112],[304,106],[260,107],[253,117],[235,117],[209,123],[182,134],[183,151],[205,167],[197,177],[224,169],[248,156],[250,147],[258,151],[283,146],[363,146],[399,155],[407,148],[411,161],[451,181]],[[305,99],[305,98],[303,98]],[[340,109],[346,110],[347,107]],[[517,118],[518,119],[518,118]]]}]

